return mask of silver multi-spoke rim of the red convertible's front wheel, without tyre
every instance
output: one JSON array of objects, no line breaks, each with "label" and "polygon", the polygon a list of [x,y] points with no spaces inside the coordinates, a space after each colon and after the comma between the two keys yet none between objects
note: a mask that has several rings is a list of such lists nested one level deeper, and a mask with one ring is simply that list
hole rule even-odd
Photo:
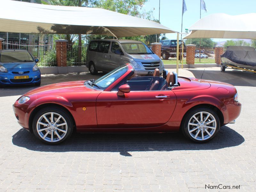
[{"label": "silver multi-spoke rim of the red convertible's front wheel, without tyre", "polygon": [[39,117],[36,123],[36,130],[43,140],[57,142],[67,134],[68,124],[60,114],[48,112]]}]

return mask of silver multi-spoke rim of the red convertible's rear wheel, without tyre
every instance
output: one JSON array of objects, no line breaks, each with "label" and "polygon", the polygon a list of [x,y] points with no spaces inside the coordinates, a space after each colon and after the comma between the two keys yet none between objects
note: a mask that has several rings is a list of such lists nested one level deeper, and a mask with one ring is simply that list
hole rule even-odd
[{"label": "silver multi-spoke rim of the red convertible's rear wheel, without tyre", "polygon": [[194,114],[188,121],[188,132],[196,140],[207,140],[216,131],[215,117],[206,111]]}]

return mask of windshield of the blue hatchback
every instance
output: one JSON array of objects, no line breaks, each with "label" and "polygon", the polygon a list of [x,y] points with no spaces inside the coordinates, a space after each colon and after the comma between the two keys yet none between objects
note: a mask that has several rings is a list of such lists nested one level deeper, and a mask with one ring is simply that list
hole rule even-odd
[{"label": "windshield of the blue hatchback", "polygon": [[33,57],[29,54],[29,52],[25,51],[8,51],[1,52],[0,62],[32,62],[34,61]]}]

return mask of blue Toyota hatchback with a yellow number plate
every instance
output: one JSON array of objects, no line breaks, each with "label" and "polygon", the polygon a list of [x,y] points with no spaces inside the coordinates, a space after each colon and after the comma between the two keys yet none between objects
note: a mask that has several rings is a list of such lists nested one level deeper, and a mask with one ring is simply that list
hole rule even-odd
[{"label": "blue Toyota hatchback with a yellow number plate", "polygon": [[34,59],[26,50],[0,50],[0,86],[41,84],[41,73]]}]

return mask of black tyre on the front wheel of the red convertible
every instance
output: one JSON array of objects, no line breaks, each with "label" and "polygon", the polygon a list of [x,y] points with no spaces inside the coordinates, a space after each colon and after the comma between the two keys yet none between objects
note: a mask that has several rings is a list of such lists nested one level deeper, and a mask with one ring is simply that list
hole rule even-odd
[{"label": "black tyre on the front wheel of the red convertible", "polygon": [[[60,132],[60,131],[58,131],[58,130],[55,130],[55,131],[49,132],[49,133],[47,134],[47,136],[46,136],[46,139],[43,139],[41,136],[44,135],[44,134],[46,134],[48,131],[50,131],[49,129],[51,129],[51,128],[52,128],[52,129],[55,129],[55,128],[54,128],[54,124],[53,124],[52,126],[49,126],[49,129],[46,129],[46,131],[41,131],[40,133],[42,133],[42,135],[40,136],[39,133],[37,132],[37,121],[38,121],[39,118],[41,118],[44,114],[52,113],[52,112],[55,113],[55,114],[61,115],[61,116],[64,118],[64,120],[66,121],[67,125],[63,125],[63,126],[57,127],[57,128],[59,128],[59,129],[61,129],[61,127],[63,128],[64,126],[66,126],[66,129],[65,129],[65,130],[66,130],[66,134],[65,134],[65,132]],[[47,117],[47,116],[46,116],[46,117]],[[57,118],[57,117],[53,117],[54,121],[56,121],[56,118]],[[43,118],[41,121],[43,121],[43,120],[45,120],[45,119]],[[48,121],[50,121],[50,120],[51,120],[51,119],[49,118]],[[61,120],[62,120],[62,119],[60,119],[58,122],[61,123]],[[64,122],[64,121],[62,121],[62,122]],[[45,123],[46,123],[46,122],[45,122]],[[60,123],[59,123],[59,124],[60,124]],[[64,123],[65,123],[65,122],[64,122]],[[46,124],[48,124],[48,123],[46,123]],[[50,124],[49,124],[49,125],[50,125]],[[35,117],[34,117],[34,120],[33,120],[32,126],[33,126],[33,127],[32,127],[32,128],[33,128],[33,132],[34,132],[34,134],[35,134],[35,136],[36,136],[37,139],[39,139],[40,141],[42,141],[43,143],[48,144],[48,145],[57,145],[57,144],[59,144],[59,143],[61,143],[61,142],[63,142],[63,141],[68,140],[68,138],[71,136],[71,134],[72,134],[72,132],[73,132],[74,124],[73,124],[73,121],[72,121],[71,116],[68,114],[68,112],[67,112],[66,110],[64,110],[64,109],[62,109],[62,108],[58,108],[58,107],[47,107],[47,108],[43,108],[43,109],[39,110],[39,111],[36,113],[36,115],[35,115]],[[40,126],[42,127],[42,125],[40,125]],[[46,126],[43,126],[42,129],[44,129],[44,128],[47,128],[47,127],[46,127]],[[65,131],[65,130],[63,130],[63,131]],[[55,139],[56,139],[57,141],[54,141],[54,142],[47,141],[47,140],[50,140],[49,136],[51,137],[53,132],[54,132],[54,134],[53,134],[54,136],[53,136],[53,137],[55,137]],[[63,134],[63,137],[58,140],[57,134],[56,134],[55,132],[57,132],[60,136],[62,136],[62,134]]]}]

